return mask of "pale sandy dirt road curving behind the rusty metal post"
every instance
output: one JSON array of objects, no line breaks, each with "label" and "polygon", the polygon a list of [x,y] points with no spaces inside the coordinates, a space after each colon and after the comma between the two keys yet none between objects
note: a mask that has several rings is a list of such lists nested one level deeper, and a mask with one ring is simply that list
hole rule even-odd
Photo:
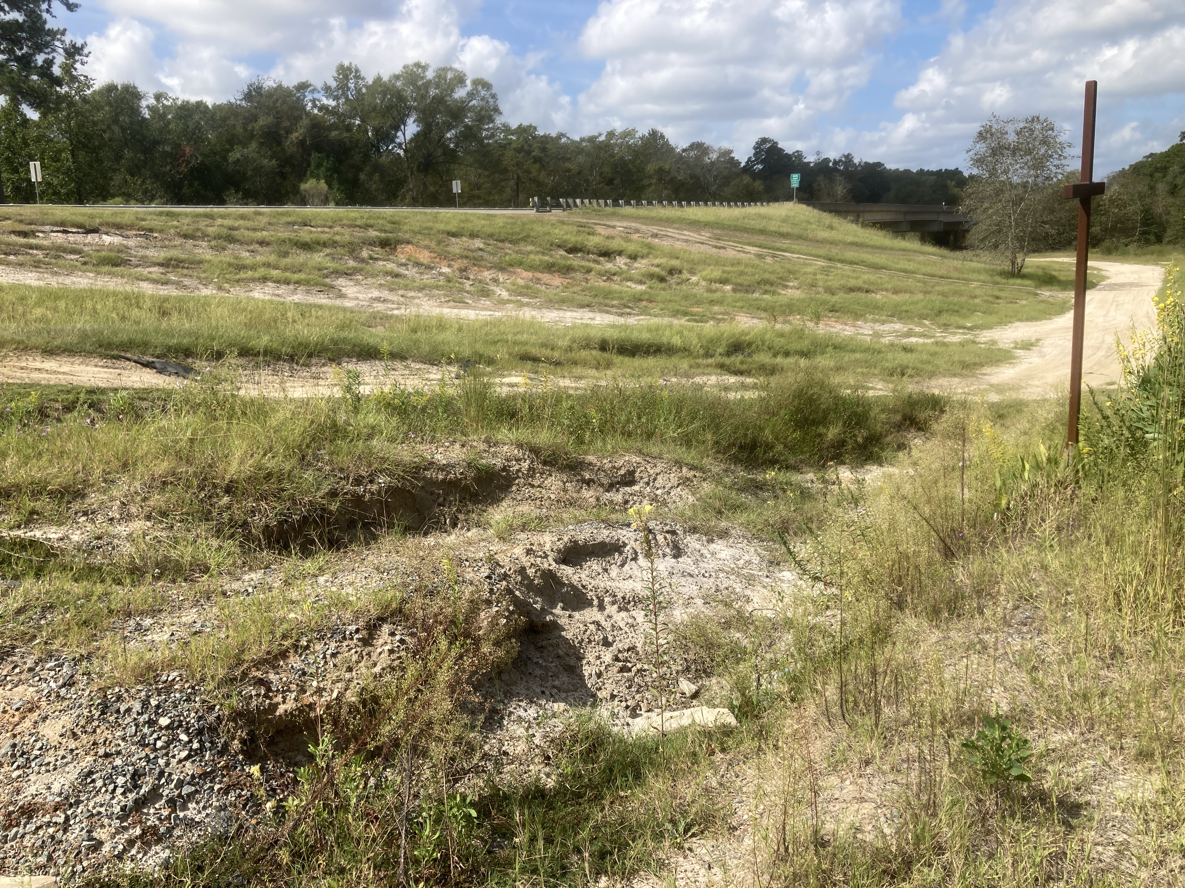
[{"label": "pale sandy dirt road curving behind the rusty metal post", "polygon": [[[1155,323],[1157,311],[1152,297],[1164,281],[1165,268],[1123,262],[1090,264],[1108,276],[1107,281],[1087,292],[1082,379],[1087,385],[1098,387],[1119,381],[1115,337],[1126,340],[1133,327],[1148,330]],[[1040,398],[1058,390],[1065,391],[1070,382],[1072,321],[1074,313],[1066,311],[1049,321],[1013,323],[988,333],[984,339],[995,339],[1001,346],[1033,341],[1037,345],[1016,361],[982,374],[976,387],[987,386],[1001,394],[1024,398]]]}]

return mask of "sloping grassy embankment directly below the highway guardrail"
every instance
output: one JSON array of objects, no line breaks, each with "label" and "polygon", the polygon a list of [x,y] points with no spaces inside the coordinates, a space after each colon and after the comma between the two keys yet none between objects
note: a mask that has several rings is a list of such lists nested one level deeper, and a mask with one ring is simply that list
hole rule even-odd
[{"label": "sloping grassy embankment directly below the highway guardrail", "polygon": [[[130,236],[95,243],[38,236],[34,225]],[[550,217],[11,210],[0,217],[0,255],[17,269],[87,272],[113,284],[231,291],[275,284],[329,295],[367,285],[457,304],[960,330],[1058,314],[1063,301],[1038,291],[1072,285],[1064,269],[1035,268],[1010,281],[976,257],[802,207]]]}]

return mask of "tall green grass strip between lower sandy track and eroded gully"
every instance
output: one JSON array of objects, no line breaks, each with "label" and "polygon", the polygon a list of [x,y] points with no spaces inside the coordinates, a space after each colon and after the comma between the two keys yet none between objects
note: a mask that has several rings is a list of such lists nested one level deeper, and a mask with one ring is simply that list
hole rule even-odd
[{"label": "tall green grass strip between lower sandy track and eroded gully", "polygon": [[33,501],[47,508],[130,484],[160,517],[250,535],[332,510],[359,484],[406,476],[423,443],[441,438],[814,466],[890,452],[942,407],[937,395],[866,395],[813,374],[749,398],[628,381],[499,392],[473,375],[456,386],[300,401],[239,397],[232,385],[211,380],[145,403],[76,403],[64,417],[52,404],[18,398],[2,414],[0,498],[9,509]]}]

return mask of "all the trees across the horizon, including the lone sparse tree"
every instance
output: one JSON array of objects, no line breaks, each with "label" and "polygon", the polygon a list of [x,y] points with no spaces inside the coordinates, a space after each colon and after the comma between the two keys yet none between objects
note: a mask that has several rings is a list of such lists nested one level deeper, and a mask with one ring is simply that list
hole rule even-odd
[{"label": "all the trees across the horizon, including the lone sparse tree", "polygon": [[[972,245],[1013,274],[1038,249],[1074,242],[1072,201],[1059,199],[1070,144],[1048,118],[992,116],[960,169],[786,150],[758,139],[731,148],[672,143],[660,130],[572,137],[502,120],[493,86],[455,67],[404,65],[367,78],[338,65],[329,83],[248,84],[229,102],[96,85],[85,46],[52,27],[55,4],[4,0],[0,20],[0,201],[31,202],[28,161],[41,162],[43,199],[102,204],[525,206],[532,197],[781,201],[790,175],[815,201],[959,205],[976,224]],[[1185,242],[1185,133],[1108,176],[1095,245]]]}]

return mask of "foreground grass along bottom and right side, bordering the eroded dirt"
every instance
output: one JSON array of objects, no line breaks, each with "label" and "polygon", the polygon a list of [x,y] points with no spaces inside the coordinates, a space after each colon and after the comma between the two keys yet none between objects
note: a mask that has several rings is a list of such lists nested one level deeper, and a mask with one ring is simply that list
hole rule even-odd
[{"label": "foreground grass along bottom and right side, bordering the eroded dirt", "polygon": [[[576,716],[553,784],[424,799],[415,823],[449,842],[417,838],[415,875],[677,882],[671,862],[719,850],[739,796],[752,829],[717,857],[736,881],[1176,883],[1185,311],[1170,308],[1081,452],[1058,456],[1061,411],[960,405],[883,483],[832,480],[816,533],[786,540],[813,594],[673,628],[672,656],[738,732],[662,749]],[[762,498],[799,493],[782,483]],[[212,843],[161,881],[391,877],[402,784],[358,791],[353,767],[326,758],[263,843]]]}]

